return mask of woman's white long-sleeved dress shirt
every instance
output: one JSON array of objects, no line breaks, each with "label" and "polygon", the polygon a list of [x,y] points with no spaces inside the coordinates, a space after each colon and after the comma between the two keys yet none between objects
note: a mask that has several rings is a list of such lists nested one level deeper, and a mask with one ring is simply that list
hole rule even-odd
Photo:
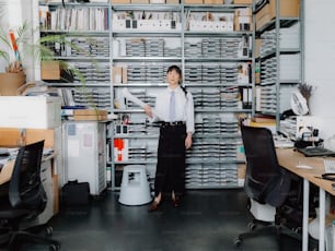
[{"label": "woman's white long-sleeved dress shirt", "polygon": [[175,121],[186,122],[186,132],[194,133],[194,103],[193,96],[177,86],[175,89],[169,86],[160,92],[155,98],[155,112],[157,116],[153,121],[170,121],[170,96],[171,92],[175,92]]}]

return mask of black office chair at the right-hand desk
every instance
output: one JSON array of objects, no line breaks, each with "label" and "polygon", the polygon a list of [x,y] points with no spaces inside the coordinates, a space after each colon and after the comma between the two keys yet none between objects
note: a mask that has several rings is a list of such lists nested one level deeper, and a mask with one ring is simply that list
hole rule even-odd
[{"label": "black office chair at the right-hand desk", "polygon": [[[301,235],[285,227],[280,207],[291,194],[292,175],[278,164],[272,131],[267,128],[241,125],[246,158],[244,190],[250,199],[249,208],[254,219],[250,231],[234,240],[240,246],[247,237],[276,234],[301,240]],[[296,193],[292,193],[296,194]],[[262,223],[262,228],[256,228]]]}]

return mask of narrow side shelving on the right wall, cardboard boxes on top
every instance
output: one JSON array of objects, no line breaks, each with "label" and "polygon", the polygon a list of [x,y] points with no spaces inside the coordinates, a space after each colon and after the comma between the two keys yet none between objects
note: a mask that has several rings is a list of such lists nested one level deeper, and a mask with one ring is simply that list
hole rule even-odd
[{"label": "narrow side shelving on the right wall, cardboard boxes on top", "polygon": [[[270,11],[273,8],[275,12]],[[255,37],[262,40],[259,52],[255,55],[261,72],[259,81],[255,81],[255,112],[275,117],[277,131],[281,127],[281,113],[290,109],[291,92],[303,83],[302,10],[303,1],[300,0],[270,0],[259,7],[253,5]]]}]

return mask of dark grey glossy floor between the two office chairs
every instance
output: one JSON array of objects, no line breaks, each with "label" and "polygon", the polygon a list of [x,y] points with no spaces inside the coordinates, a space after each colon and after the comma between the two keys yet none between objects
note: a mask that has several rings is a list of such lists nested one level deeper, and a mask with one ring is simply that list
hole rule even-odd
[{"label": "dark grey glossy floor between the two office chairs", "polygon": [[[242,189],[188,190],[180,207],[165,199],[159,211],[126,206],[107,191],[90,206],[66,207],[50,220],[62,251],[300,250],[299,242],[274,236],[234,239],[251,215]],[[280,243],[280,244],[279,244]]]}]

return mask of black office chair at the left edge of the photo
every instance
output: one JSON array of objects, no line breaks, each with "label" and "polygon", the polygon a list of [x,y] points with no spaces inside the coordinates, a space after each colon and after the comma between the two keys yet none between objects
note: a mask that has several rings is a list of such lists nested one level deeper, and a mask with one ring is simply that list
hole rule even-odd
[{"label": "black office chair at the left edge of the photo", "polygon": [[19,150],[15,158],[9,195],[0,201],[0,229],[9,230],[9,250],[21,250],[30,243],[48,246],[58,250],[60,243],[46,236],[37,235],[41,230],[50,234],[47,225],[31,226],[22,229],[25,220],[34,220],[46,207],[47,196],[41,180],[41,163],[44,141],[28,144]]}]

